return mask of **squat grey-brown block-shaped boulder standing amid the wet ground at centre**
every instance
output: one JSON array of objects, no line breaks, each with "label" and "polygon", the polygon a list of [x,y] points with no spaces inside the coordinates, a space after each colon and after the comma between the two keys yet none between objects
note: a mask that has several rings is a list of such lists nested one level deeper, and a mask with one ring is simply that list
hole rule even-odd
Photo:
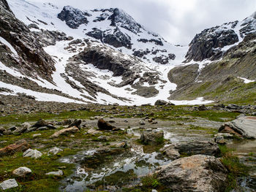
[{"label": "squat grey-brown block-shaped boulder standing amid the wet ground at centre", "polygon": [[145,145],[154,145],[154,144],[161,144],[164,139],[164,131],[143,131],[140,134],[140,142]]}]

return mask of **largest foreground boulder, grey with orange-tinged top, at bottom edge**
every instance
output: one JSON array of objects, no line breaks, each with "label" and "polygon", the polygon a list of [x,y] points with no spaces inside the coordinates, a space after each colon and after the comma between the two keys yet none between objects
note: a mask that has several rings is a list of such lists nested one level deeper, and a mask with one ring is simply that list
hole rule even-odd
[{"label": "largest foreground boulder, grey with orange-tinged top, at bottom edge", "polygon": [[227,185],[227,169],[214,156],[192,155],[160,166],[154,174],[171,191],[222,192]]}]

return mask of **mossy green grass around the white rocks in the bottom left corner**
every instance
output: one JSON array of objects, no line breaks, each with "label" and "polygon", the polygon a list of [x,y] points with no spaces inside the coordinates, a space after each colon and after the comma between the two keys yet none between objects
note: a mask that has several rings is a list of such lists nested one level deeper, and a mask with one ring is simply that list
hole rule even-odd
[{"label": "mossy green grass around the white rocks in the bottom left corner", "polygon": [[[59,181],[67,175],[72,173],[74,169],[73,164],[64,164],[56,161],[61,156],[74,154],[72,150],[64,150],[59,155],[42,155],[39,159],[23,158],[23,153],[16,153],[12,156],[0,158],[0,180],[7,180],[15,178],[20,184],[19,188],[11,189],[10,191],[58,191]],[[12,175],[12,171],[20,166],[26,166],[31,169],[32,173],[26,177],[15,177]],[[62,169],[64,175],[48,176],[47,172],[53,172],[59,170],[59,167],[65,166],[66,169]]]}]

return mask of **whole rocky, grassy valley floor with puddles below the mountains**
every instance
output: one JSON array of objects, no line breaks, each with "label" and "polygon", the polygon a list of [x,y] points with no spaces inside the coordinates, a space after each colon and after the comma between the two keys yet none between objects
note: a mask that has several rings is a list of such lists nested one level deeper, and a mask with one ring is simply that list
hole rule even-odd
[{"label": "whole rocky, grassy valley floor with puddles below the mountains", "polygon": [[[248,138],[256,137],[255,116],[249,116],[256,115],[255,106],[157,104],[42,102],[34,105],[42,106],[38,111],[29,111],[28,104],[11,114],[5,107],[0,117],[1,189],[254,190],[255,141]],[[236,152],[231,145],[246,150]]]}]

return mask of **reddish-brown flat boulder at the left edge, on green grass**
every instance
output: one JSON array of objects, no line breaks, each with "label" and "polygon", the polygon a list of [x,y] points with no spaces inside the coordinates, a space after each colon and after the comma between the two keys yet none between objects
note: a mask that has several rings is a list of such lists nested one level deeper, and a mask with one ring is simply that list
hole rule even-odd
[{"label": "reddish-brown flat boulder at the left edge, on green grass", "polygon": [[29,149],[30,145],[26,140],[20,140],[15,144],[8,145],[7,147],[0,149],[0,157],[5,155],[12,155],[14,153],[18,153],[20,151],[25,151]]}]

